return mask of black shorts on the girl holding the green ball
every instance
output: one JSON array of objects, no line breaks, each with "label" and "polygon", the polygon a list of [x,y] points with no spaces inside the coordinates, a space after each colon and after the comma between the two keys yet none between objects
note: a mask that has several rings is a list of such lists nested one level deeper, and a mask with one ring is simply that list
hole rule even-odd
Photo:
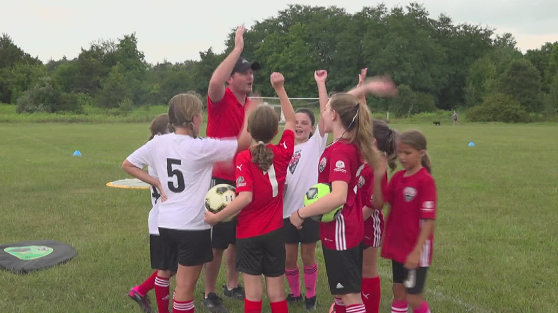
[{"label": "black shorts on the girl holding the green ball", "polygon": [[364,244],[343,251],[331,250],[324,246],[322,250],[331,294],[360,294]]}]

